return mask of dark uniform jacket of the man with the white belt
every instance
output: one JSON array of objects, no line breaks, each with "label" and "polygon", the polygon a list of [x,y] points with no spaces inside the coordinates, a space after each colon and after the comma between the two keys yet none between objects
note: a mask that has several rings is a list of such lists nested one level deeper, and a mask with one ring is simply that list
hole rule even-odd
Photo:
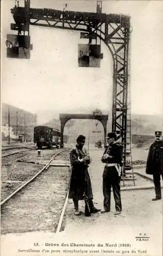
[{"label": "dark uniform jacket of the man with the white belt", "polygon": [[120,166],[122,166],[122,160],[123,160],[123,146],[117,143],[113,143],[111,145],[106,146],[104,154],[108,154],[110,157],[104,159],[103,156],[101,158],[101,161],[103,163],[117,163]]}]

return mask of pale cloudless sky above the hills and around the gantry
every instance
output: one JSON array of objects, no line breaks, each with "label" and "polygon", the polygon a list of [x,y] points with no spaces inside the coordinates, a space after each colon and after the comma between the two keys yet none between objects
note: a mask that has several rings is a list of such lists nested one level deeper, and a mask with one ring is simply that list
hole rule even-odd
[{"label": "pale cloudless sky above the hills and around the gantry", "polygon": [[[23,6],[22,0],[19,6]],[[30,59],[6,57],[6,34],[13,23],[15,1],[2,1],[2,101],[32,113],[38,110],[112,109],[113,60],[101,44],[100,68],[79,68],[79,31],[30,26]],[[31,0],[33,8],[96,12],[96,1]],[[131,113],[163,112],[162,1],[102,1],[102,12],[130,15]]]}]

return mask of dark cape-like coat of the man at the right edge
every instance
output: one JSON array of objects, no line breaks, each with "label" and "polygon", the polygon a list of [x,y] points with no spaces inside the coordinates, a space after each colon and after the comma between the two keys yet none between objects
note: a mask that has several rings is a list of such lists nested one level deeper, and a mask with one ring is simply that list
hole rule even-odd
[{"label": "dark cape-like coat of the man at the right edge", "polygon": [[146,174],[163,173],[163,141],[154,141],[147,158]]}]

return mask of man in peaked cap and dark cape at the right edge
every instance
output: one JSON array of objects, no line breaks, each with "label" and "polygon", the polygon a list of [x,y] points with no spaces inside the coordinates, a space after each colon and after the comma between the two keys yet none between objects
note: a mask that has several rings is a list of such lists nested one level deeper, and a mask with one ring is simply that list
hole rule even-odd
[{"label": "man in peaked cap and dark cape at the right edge", "polygon": [[153,175],[156,197],[152,201],[161,199],[160,175],[163,180],[163,140],[162,132],[155,132],[155,141],[149,148],[146,174]]}]

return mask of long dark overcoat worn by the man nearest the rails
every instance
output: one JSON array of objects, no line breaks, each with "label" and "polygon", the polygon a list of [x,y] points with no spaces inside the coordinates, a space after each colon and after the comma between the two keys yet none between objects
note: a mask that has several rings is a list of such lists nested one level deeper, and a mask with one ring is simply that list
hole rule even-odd
[{"label": "long dark overcoat worn by the man nearest the rails", "polygon": [[87,196],[90,199],[93,199],[91,180],[88,173],[88,165],[90,161],[83,163],[78,160],[78,157],[79,159],[82,159],[86,154],[86,148],[80,150],[77,145],[72,148],[70,152],[71,180],[69,198],[83,200],[84,193],[86,192]]}]

